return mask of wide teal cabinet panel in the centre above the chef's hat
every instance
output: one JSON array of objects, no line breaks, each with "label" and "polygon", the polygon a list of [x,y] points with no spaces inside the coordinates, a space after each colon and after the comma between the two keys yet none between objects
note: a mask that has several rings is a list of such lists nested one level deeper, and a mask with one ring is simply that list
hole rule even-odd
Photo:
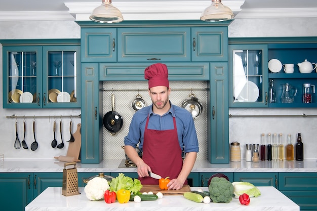
[{"label": "wide teal cabinet panel in the centre above the chef's hat", "polygon": [[118,28],[118,62],[190,61],[190,27]]}]

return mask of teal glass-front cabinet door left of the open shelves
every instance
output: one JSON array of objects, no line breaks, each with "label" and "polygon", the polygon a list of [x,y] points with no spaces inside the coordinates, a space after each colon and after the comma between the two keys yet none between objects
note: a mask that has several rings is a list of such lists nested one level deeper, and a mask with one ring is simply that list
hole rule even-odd
[{"label": "teal glass-front cabinet door left of the open shelves", "polygon": [[229,45],[229,107],[267,107],[267,45]]}]

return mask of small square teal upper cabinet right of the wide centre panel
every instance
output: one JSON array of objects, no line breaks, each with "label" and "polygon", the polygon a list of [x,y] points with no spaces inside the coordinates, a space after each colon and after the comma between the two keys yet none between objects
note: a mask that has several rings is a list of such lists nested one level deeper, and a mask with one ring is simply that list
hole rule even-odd
[{"label": "small square teal upper cabinet right of the wide centre panel", "polygon": [[228,61],[228,27],[191,27],[192,62]]}]

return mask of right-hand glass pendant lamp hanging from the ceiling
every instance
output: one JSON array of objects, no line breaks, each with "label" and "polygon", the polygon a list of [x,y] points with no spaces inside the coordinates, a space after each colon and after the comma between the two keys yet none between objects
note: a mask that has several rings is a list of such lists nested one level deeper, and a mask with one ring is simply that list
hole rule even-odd
[{"label": "right-hand glass pendant lamp hanging from the ceiling", "polygon": [[224,6],[221,0],[211,0],[211,5],[204,10],[201,20],[206,22],[227,21],[233,19],[230,8]]}]

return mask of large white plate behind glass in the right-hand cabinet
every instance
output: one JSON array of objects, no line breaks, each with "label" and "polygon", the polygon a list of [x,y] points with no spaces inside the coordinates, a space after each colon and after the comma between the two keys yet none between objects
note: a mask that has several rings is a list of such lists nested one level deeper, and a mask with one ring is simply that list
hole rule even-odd
[{"label": "large white plate behind glass in the right-hand cabinet", "polygon": [[239,102],[256,102],[259,94],[258,86],[252,81],[247,81],[236,100]]}]

